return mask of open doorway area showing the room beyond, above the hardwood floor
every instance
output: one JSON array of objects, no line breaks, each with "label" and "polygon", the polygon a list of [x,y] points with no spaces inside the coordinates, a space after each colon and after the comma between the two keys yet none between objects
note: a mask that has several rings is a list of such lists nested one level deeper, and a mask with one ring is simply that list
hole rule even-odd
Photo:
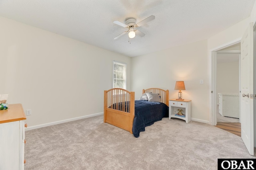
[{"label": "open doorway area showing the room beyond, above the hardwood floor", "polygon": [[216,51],[217,123],[240,123],[240,54],[241,45]]}]

